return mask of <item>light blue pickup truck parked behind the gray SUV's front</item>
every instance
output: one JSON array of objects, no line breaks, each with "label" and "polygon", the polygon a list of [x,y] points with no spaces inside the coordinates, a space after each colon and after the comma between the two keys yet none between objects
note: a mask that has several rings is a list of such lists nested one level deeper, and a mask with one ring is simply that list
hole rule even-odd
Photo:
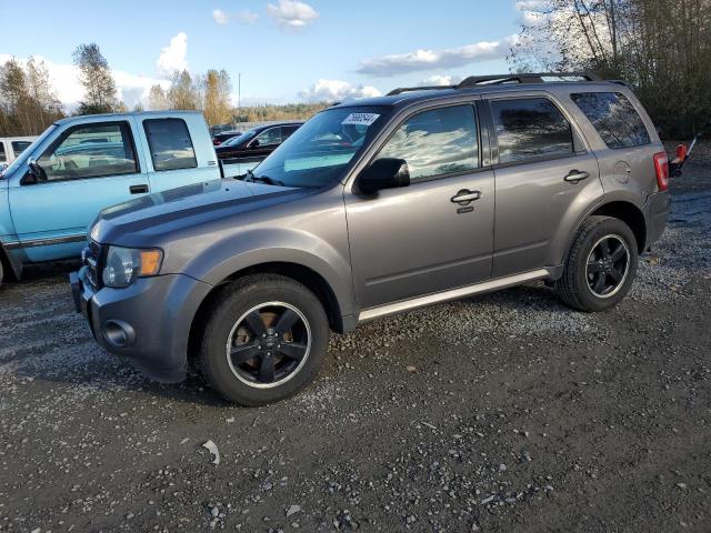
[{"label": "light blue pickup truck parked behind the gray SUV's front", "polygon": [[0,174],[0,283],[27,263],[79,258],[106,207],[220,179],[199,112],[72,117]]}]

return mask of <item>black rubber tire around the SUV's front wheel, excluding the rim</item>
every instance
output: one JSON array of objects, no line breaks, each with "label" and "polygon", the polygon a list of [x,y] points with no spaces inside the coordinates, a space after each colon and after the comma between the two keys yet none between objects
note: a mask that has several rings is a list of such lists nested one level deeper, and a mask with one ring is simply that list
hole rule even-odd
[{"label": "black rubber tire around the SUV's front wheel, excluding the rim", "polygon": [[[227,360],[227,340],[237,320],[249,309],[267,302],[284,302],[297,308],[309,322],[311,349],[299,372],[286,383],[258,389],[242,382]],[[272,279],[267,283],[242,283],[214,309],[206,328],[202,358],[203,371],[211,385],[227,400],[256,406],[284,400],[307,386],[318,373],[329,339],[328,319],[320,301],[303,285]]]}]

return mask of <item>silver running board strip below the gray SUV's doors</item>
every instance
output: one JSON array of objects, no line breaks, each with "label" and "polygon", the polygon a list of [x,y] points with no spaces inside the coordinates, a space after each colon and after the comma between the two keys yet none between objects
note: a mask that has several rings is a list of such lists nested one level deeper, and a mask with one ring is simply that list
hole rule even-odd
[{"label": "silver running board strip below the gray SUV's doors", "polygon": [[452,289],[451,291],[435,292],[434,294],[428,294],[425,296],[418,296],[410,300],[401,300],[399,302],[388,303],[385,305],[378,305],[377,308],[370,308],[361,311],[358,316],[358,323],[362,324],[363,322],[369,322],[374,319],[390,316],[392,314],[411,311],[413,309],[423,308],[425,305],[448,302],[450,300],[459,300],[460,298],[471,296],[473,294],[498,291],[500,289],[520,285],[521,283],[525,283],[529,281],[543,280],[549,276],[550,272],[547,269],[539,269],[531,272],[525,272],[523,274],[508,275],[505,278],[499,278],[498,280],[484,281],[483,283],[460,286],[459,289]]}]

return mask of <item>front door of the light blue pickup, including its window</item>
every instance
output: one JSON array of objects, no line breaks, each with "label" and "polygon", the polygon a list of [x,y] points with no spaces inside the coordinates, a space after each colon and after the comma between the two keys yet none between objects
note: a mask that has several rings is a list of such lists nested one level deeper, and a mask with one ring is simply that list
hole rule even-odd
[{"label": "front door of the light blue pickup, including its window", "polygon": [[20,247],[30,261],[78,257],[103,208],[149,192],[127,121],[68,128],[37,161],[36,182],[10,187]]}]

